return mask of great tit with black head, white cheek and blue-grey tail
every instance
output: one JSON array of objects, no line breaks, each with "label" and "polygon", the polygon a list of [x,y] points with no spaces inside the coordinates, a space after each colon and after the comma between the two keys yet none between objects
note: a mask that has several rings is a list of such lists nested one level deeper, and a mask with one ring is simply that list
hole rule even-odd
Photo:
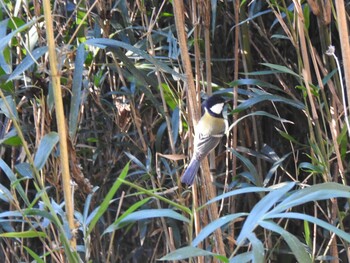
[{"label": "great tit with black head, white cheek and blue-grey tail", "polygon": [[225,100],[213,95],[203,103],[204,113],[195,127],[193,156],[181,182],[192,185],[201,161],[219,144],[225,134],[226,122],[222,116]]}]

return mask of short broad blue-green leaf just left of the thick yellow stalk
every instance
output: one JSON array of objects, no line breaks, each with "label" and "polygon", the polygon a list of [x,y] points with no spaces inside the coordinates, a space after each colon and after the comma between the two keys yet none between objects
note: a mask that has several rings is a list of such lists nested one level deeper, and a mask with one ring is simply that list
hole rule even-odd
[{"label": "short broad blue-green leaf just left of the thick yellow stalk", "polygon": [[57,132],[50,132],[46,134],[40,141],[39,148],[34,157],[34,166],[39,171],[44,167],[49,158],[52,149],[59,141]]}]

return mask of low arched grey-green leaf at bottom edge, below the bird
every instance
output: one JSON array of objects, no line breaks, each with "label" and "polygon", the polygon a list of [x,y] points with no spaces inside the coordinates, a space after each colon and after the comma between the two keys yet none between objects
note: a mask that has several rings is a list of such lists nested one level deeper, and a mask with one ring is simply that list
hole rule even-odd
[{"label": "low arched grey-green leaf at bottom edge, below the bird", "polygon": [[200,256],[212,256],[221,260],[222,262],[229,262],[228,259],[224,256],[191,246],[179,248],[175,251],[172,251],[168,255],[160,258],[159,260],[182,260]]}]

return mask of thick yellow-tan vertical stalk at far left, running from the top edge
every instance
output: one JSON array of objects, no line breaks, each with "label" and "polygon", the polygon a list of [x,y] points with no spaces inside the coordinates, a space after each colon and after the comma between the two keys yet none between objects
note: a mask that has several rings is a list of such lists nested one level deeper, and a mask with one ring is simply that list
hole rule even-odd
[{"label": "thick yellow-tan vertical stalk at far left, running from the top edge", "polygon": [[[47,42],[49,47],[51,81],[52,81],[54,101],[56,106],[55,111],[56,111],[56,118],[57,118],[57,129],[58,129],[58,135],[60,138],[60,159],[61,159],[61,169],[62,169],[64,201],[66,206],[69,229],[73,234],[74,208],[73,208],[73,198],[72,198],[72,191],[71,191],[71,185],[70,185],[67,130],[66,130],[66,122],[65,122],[64,111],[63,111],[60,74],[57,68],[56,47],[55,47],[55,40],[54,40],[54,34],[53,34],[53,21],[51,16],[50,1],[44,0],[43,4],[44,4],[44,17],[45,17],[45,23],[46,23],[46,37],[47,37]],[[73,250],[76,249],[76,240],[74,235],[70,240],[70,245]]]}]

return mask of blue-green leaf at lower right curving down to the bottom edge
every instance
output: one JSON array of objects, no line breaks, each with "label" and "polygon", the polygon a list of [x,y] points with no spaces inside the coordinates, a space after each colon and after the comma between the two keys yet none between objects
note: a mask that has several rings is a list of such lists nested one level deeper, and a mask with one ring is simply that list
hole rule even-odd
[{"label": "blue-green leaf at lower right curving down to the bottom edge", "polygon": [[[305,221],[306,222],[306,221]],[[270,231],[280,234],[290,247],[292,254],[295,256],[298,262],[311,263],[311,257],[306,251],[306,246],[299,241],[297,237],[277,225],[272,221],[261,221],[260,226]]]}]

